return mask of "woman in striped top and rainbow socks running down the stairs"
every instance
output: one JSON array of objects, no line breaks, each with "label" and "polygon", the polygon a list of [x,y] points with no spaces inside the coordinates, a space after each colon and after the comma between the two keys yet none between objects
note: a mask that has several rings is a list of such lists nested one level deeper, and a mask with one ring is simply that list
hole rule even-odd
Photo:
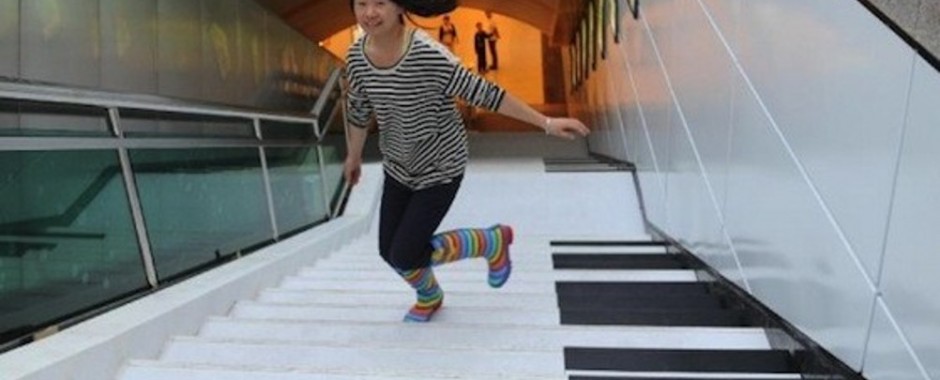
[{"label": "woman in striped top and rainbow socks running down the stairs", "polygon": [[[449,3],[440,6],[441,3]],[[462,67],[427,33],[405,25],[406,12],[432,17],[456,1],[350,0],[365,35],[349,48],[346,180],[362,167],[366,126],[379,127],[385,181],[379,216],[379,252],[417,292],[405,321],[427,322],[443,303],[433,266],[471,257],[489,264],[498,288],[512,271],[512,228],[460,229],[434,234],[450,208],[467,165],[467,135],[455,97],[545,129],[550,135],[587,135],[581,122],[548,118]]]}]

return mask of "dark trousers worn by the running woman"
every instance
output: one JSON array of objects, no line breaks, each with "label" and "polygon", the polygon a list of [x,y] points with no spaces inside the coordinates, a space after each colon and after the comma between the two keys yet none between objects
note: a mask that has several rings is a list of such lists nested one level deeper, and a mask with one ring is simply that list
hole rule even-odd
[{"label": "dark trousers worn by the running woman", "polygon": [[415,191],[385,175],[379,214],[379,253],[385,262],[401,270],[430,265],[431,237],[454,203],[462,179]]}]

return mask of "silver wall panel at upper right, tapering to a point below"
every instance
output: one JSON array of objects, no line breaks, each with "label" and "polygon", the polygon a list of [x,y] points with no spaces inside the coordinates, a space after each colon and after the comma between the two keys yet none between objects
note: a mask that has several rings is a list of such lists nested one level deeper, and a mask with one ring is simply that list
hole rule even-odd
[{"label": "silver wall panel at upper right, tapering to a point below", "polygon": [[875,277],[910,48],[856,2],[745,1],[740,20],[741,64]]}]

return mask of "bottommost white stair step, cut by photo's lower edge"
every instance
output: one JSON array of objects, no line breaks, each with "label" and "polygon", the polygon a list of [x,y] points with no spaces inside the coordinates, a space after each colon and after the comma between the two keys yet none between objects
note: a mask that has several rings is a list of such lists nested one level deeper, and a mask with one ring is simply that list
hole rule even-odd
[{"label": "bottommost white stair step, cut by photo's lower edge", "polygon": [[[244,368],[217,365],[182,365],[153,360],[134,360],[124,368],[118,380],[492,380],[488,375],[434,374],[427,371],[368,374],[353,369],[337,372]],[[565,376],[506,376],[506,380],[563,380]]]}]

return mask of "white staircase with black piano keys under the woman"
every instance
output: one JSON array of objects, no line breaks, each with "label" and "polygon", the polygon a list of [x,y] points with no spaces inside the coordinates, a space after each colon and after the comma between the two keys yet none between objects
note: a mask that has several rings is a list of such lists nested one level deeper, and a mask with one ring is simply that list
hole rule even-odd
[{"label": "white staircase with black piano keys under the woman", "polygon": [[[430,323],[402,323],[414,293],[378,257],[375,236],[364,236],[208,318],[194,336],[172,338],[159,357],[127,362],[117,379],[800,378],[791,354],[773,349],[733,299],[698,282],[700,263],[624,231],[618,223],[629,218],[597,217],[624,207],[606,191],[633,197],[609,177],[623,172],[546,174],[537,164],[471,165],[442,226],[485,225],[499,220],[493,210],[516,217],[499,220],[517,226],[503,288],[487,286],[483,260],[448,264],[436,270],[444,307]],[[494,181],[502,197],[492,197]],[[514,197],[577,188],[592,189],[574,196],[589,212],[545,199],[533,200],[543,210],[513,210],[527,207]],[[554,212],[578,218],[545,224]],[[625,235],[639,237],[615,239]]]}]

